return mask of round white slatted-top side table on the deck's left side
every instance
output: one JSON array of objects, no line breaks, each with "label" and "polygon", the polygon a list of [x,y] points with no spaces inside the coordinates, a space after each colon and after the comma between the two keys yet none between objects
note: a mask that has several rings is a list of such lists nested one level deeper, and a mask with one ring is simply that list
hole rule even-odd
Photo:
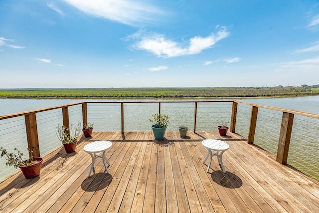
[{"label": "round white slatted-top side table on the deck's left side", "polygon": [[[92,158],[92,164],[91,164],[91,169],[89,171],[88,177],[90,177],[91,172],[94,168],[94,163],[96,158],[102,158],[105,170],[107,173],[109,173],[108,167],[106,166],[106,163],[110,166],[110,162],[106,158],[105,151],[110,149],[112,147],[112,142],[111,141],[95,141],[92,143],[89,143],[84,146],[84,152],[87,152],[90,154]],[[102,153],[102,155],[97,155],[96,153]],[[106,163],[105,163],[106,162]]]}]

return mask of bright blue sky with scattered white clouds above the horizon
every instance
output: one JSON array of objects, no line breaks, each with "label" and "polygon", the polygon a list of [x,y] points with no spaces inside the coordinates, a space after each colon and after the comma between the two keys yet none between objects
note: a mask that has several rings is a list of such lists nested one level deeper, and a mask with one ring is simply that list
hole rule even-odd
[{"label": "bright blue sky with scattered white clouds above the horizon", "polygon": [[0,88],[302,84],[318,0],[0,0]]}]

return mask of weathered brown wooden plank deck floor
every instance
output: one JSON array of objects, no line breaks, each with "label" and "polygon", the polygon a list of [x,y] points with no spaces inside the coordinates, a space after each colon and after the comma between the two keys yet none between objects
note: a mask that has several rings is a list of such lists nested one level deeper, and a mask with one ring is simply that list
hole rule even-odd
[{"label": "weathered brown wooden plank deck floor", "polygon": [[[95,132],[82,137],[77,152],[63,147],[46,156],[40,177],[25,180],[18,171],[0,182],[0,211],[9,212],[319,212],[319,183],[274,156],[249,145],[241,136],[217,132],[167,132],[164,141],[152,132]],[[203,139],[221,139],[230,149],[223,155],[226,174],[216,157],[211,169],[203,159]],[[112,141],[107,151],[110,174],[84,145]],[[207,161],[208,163],[208,161]]]}]

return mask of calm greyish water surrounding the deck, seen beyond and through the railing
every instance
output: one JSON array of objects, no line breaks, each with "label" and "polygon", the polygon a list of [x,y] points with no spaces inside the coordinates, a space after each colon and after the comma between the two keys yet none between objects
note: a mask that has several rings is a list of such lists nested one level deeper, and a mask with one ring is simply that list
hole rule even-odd
[{"label": "calm greyish water surrounding the deck, seen beyond and through the railing", "polygon": [[[0,99],[0,115],[23,112],[28,110],[46,108],[51,106],[58,106],[64,105],[69,103],[81,102],[81,101],[136,101],[137,99]],[[158,101],[159,99],[138,99],[139,101]],[[172,99],[160,99],[160,100],[172,100]],[[185,100],[185,99],[173,99],[173,100]],[[187,100],[234,100],[234,99],[187,99]],[[292,110],[298,110],[303,112],[315,113],[319,114],[319,96],[306,96],[306,97],[294,97],[294,98],[241,98],[236,99],[244,102],[249,103],[256,103],[262,104],[267,106],[274,106]],[[203,106],[205,104],[202,104]],[[231,106],[231,104],[227,103],[227,107]],[[171,116],[171,125],[168,126],[167,131],[177,131],[178,126],[187,126],[189,127],[190,131],[193,128],[193,103],[185,103],[182,106],[180,104],[172,104],[165,106],[164,104],[161,105],[161,112],[164,114],[169,114]],[[206,129],[207,125],[209,126],[216,126],[216,117],[219,116],[220,111],[223,107],[226,107],[226,104],[221,105],[219,108],[214,108],[211,111],[210,108],[198,108],[198,116],[197,116],[197,123],[196,123],[196,130],[198,131],[209,131],[211,129]],[[236,132],[247,137],[247,119],[250,117],[250,106],[246,106],[246,115],[244,115],[243,119],[240,119],[240,116],[237,117],[237,126]],[[154,109],[156,111],[158,108],[158,104],[144,104],[140,106],[136,106],[136,104],[129,105],[125,107],[125,131],[151,131],[150,129],[150,122],[148,118],[150,115],[154,114]],[[208,109],[208,112],[207,112]],[[228,108],[229,109],[229,108]],[[69,109],[70,110],[70,109]],[[38,124],[38,132],[39,132],[39,142],[40,142],[40,151],[41,155],[50,152],[50,150],[59,147],[61,144],[57,140],[55,135],[55,127],[57,123],[62,123],[61,118],[61,110],[57,110],[58,112],[52,112],[49,115],[41,113],[37,113],[37,124]],[[228,110],[228,114],[224,115],[227,119],[230,118],[230,111],[231,107]],[[262,111],[262,110],[261,110]],[[60,114],[59,114],[60,113]],[[208,113],[208,114],[207,114]],[[75,118],[72,116],[72,112],[70,113],[70,122],[75,123],[76,121],[81,119],[81,109],[80,106],[75,109],[74,114],[76,114]],[[239,112],[238,114],[241,114]],[[102,115],[102,116],[101,116]],[[142,116],[140,116],[142,115]],[[58,117],[59,119],[56,119]],[[71,118],[72,117],[72,118]],[[280,123],[281,123],[281,113],[277,114],[270,114],[266,117],[260,116],[262,119],[259,120],[268,120],[268,122],[272,122],[273,120],[276,122],[277,133],[270,133],[268,134],[267,131],[264,133],[263,131],[258,131],[258,126],[260,128],[265,128],[268,124],[257,124],[256,132],[261,132],[256,134],[255,141],[257,145],[262,146],[269,152],[276,155],[276,150],[278,146],[278,131],[280,130]],[[295,116],[296,117],[296,116]],[[207,120],[207,118],[211,118],[211,120]],[[259,118],[259,117],[258,117]],[[5,131],[3,131],[3,127],[6,127],[6,124],[3,125],[3,121],[0,121],[0,133],[4,136],[0,138],[0,146],[17,146],[17,147],[25,147],[25,131],[24,131],[24,118],[19,118],[20,120],[14,121],[17,124],[13,123],[16,126],[17,132],[13,133],[14,136],[7,136],[5,135]],[[305,118],[302,118],[305,119]],[[94,121],[94,130],[95,131],[121,131],[121,118],[120,118],[120,108],[118,105],[115,107],[108,107],[105,106],[98,106],[98,105],[88,105],[88,120]],[[294,126],[298,127],[298,117],[295,119]],[[319,119],[317,119],[319,120]],[[1,123],[2,122],[2,123]],[[317,122],[317,121],[316,121]],[[2,124],[2,125],[1,125]],[[106,125],[107,124],[107,125]],[[112,124],[112,125],[110,125]],[[312,130],[311,134],[317,132],[318,130],[318,122],[314,125],[314,129]],[[266,127],[267,128],[267,127]],[[215,129],[214,129],[215,130]],[[294,130],[294,132],[297,132]],[[10,134],[10,133],[8,133]],[[274,138],[271,138],[274,137]],[[302,136],[295,136],[298,140],[292,139],[290,154],[289,154],[289,164],[293,165],[294,167],[304,171],[307,174],[311,174],[312,177],[315,177],[319,180],[319,144],[318,141],[313,141],[312,138],[315,138],[312,135],[311,139],[307,139],[303,141],[304,135]],[[319,136],[317,137],[319,138]],[[295,140],[295,141],[293,141]],[[10,141],[8,143],[8,141]],[[50,141],[50,143],[47,143]],[[258,141],[258,142],[257,142]],[[268,142],[267,142],[268,141]],[[19,144],[20,143],[20,144]],[[313,146],[316,143],[315,152],[312,153],[313,156],[310,156],[312,168],[309,166],[305,167],[305,162],[300,160],[303,156],[309,156],[309,153],[304,153],[301,150],[301,147],[305,146],[305,144],[310,143],[309,146]],[[318,150],[317,150],[318,149]],[[12,168],[8,168],[4,166],[3,159],[0,159],[0,179],[7,175],[8,170],[14,171]]]}]

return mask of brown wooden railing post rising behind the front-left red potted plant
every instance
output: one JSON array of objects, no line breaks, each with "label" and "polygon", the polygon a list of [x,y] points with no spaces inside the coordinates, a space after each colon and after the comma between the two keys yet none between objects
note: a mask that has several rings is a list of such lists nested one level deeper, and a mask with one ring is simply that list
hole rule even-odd
[{"label": "brown wooden railing post rising behind the front-left red potted plant", "polygon": [[[32,151],[33,158],[40,157],[38,130],[35,113],[24,115],[26,138],[28,142],[29,156]],[[31,157],[31,156],[30,156]]]}]

